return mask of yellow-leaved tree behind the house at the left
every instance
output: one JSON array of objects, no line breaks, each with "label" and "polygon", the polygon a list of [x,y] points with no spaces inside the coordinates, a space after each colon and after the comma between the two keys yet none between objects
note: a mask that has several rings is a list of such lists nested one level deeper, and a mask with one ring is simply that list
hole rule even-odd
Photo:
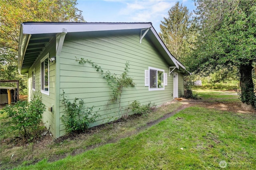
[{"label": "yellow-leaved tree behind the house at the left", "polygon": [[18,74],[20,23],[84,22],[82,11],[76,4],[76,0],[0,0],[0,79],[21,80],[20,87],[26,88],[26,78]]}]

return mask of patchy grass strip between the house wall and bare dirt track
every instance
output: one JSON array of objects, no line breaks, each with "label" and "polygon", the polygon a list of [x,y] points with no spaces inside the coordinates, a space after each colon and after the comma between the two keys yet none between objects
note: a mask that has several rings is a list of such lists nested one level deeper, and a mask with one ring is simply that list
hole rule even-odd
[{"label": "patchy grass strip between the house wall and bare dirt track", "polygon": [[179,102],[166,104],[148,114],[148,117],[128,117],[127,120],[118,120],[114,123],[91,128],[88,133],[71,135],[54,141],[48,136],[48,139],[43,139],[43,141],[39,140],[25,145],[20,144],[20,141],[14,138],[17,134],[15,135],[10,131],[11,125],[6,123],[7,119],[0,119],[0,169],[10,169],[18,165],[26,166],[44,158],[48,161],[59,160],[106,143],[114,143],[119,139],[142,131],[148,126],[148,123],[156,121],[181,105]]}]

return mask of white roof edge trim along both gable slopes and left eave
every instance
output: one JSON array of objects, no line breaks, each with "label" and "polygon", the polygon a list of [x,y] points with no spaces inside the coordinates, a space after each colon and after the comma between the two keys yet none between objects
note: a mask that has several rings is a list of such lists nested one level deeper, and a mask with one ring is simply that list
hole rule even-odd
[{"label": "white roof edge trim along both gable slopes and left eave", "polygon": [[[43,25],[43,26],[42,26]],[[60,26],[61,25],[61,26]],[[78,26],[79,25],[79,26]],[[83,27],[82,25],[86,25]],[[100,25],[100,26],[99,26]],[[47,29],[45,29],[47,27]],[[151,22],[147,23],[48,23],[48,22],[25,22],[20,27],[19,51],[18,51],[18,71],[22,74],[22,63],[28,42],[32,34],[44,33],[61,33],[66,29],[68,32],[88,32],[88,31],[109,31],[109,30],[124,30],[124,29],[145,29],[150,28],[154,37],[156,37],[160,46],[164,49],[167,56],[170,57],[174,65],[179,69],[179,66],[184,70],[186,68],[172,56],[162,39],[152,26]],[[166,57],[167,57],[166,56]]]}]

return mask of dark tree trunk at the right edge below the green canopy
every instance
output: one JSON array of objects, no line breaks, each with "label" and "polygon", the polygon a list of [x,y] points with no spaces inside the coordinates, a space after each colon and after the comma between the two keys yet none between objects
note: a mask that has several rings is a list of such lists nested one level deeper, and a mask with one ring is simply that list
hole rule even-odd
[{"label": "dark tree trunk at the right edge below the green canopy", "polygon": [[240,99],[243,103],[242,107],[244,107],[244,109],[252,109],[256,102],[254,95],[254,84],[252,81],[252,68],[252,63],[240,64]]}]

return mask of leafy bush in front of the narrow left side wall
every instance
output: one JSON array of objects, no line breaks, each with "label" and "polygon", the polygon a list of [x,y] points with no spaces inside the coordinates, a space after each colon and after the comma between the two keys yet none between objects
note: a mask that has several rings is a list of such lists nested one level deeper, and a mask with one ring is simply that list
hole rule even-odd
[{"label": "leafy bush in front of the narrow left side wall", "polygon": [[11,118],[12,129],[21,135],[24,142],[38,136],[45,111],[40,92],[36,92],[30,102],[18,101],[14,106],[8,105],[3,110]]}]

